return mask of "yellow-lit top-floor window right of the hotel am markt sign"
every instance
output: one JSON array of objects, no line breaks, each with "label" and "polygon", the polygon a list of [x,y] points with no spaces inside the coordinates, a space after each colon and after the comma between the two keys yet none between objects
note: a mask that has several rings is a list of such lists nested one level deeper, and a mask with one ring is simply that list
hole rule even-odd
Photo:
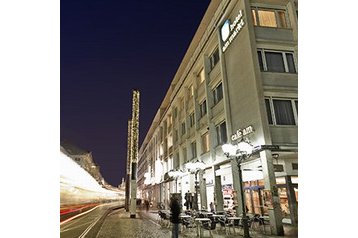
[{"label": "yellow-lit top-floor window right of the hotel am markt sign", "polygon": [[279,9],[261,9],[254,7],[251,10],[252,21],[255,26],[288,28],[286,11]]}]

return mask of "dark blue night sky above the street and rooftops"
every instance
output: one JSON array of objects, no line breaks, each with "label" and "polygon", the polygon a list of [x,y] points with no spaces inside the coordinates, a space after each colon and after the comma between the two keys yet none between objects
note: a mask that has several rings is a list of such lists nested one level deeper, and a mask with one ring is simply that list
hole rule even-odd
[{"label": "dark blue night sky above the street and rooftops", "polygon": [[142,143],[209,0],[61,0],[61,140],[125,177],[132,89]]}]

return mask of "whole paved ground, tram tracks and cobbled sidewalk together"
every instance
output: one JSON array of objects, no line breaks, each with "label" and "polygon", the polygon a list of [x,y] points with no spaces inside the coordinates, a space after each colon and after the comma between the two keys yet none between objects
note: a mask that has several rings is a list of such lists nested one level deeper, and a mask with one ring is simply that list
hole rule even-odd
[{"label": "whole paved ground, tram tracks and cobbled sidewalk together", "polygon": [[[93,211],[77,217],[61,225],[61,238],[170,238],[171,228],[159,224],[158,211],[137,210],[136,218],[130,218],[129,212],[118,208],[119,203],[104,204]],[[284,237],[298,237],[297,228],[284,226]],[[184,229],[179,237],[196,237],[196,228]],[[239,232],[242,234],[242,231]],[[209,231],[204,231],[203,237],[210,237]],[[252,238],[279,238],[250,232]],[[213,238],[242,237],[238,233],[226,234],[219,225],[212,231]],[[282,237],[282,236],[281,236]]]}]

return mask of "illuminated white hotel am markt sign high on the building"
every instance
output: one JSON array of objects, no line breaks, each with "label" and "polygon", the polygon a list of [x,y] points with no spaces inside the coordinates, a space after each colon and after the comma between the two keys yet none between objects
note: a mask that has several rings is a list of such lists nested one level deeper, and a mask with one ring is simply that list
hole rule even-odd
[{"label": "illuminated white hotel am markt sign high on the building", "polygon": [[230,23],[230,20],[227,19],[221,27],[221,39],[223,40],[223,53],[229,47],[231,42],[239,34],[243,26],[245,25],[244,19],[242,18],[242,10],[239,11],[239,14],[235,17],[233,23]]}]

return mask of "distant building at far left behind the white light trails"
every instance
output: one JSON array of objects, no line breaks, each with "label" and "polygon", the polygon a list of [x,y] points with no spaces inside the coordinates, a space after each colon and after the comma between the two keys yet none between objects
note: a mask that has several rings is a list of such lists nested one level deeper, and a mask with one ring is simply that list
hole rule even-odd
[{"label": "distant building at far left behind the white light trails", "polygon": [[91,174],[99,184],[106,184],[100,173],[100,166],[96,165],[93,160],[92,152],[84,150],[66,140],[61,141],[61,151]]}]

